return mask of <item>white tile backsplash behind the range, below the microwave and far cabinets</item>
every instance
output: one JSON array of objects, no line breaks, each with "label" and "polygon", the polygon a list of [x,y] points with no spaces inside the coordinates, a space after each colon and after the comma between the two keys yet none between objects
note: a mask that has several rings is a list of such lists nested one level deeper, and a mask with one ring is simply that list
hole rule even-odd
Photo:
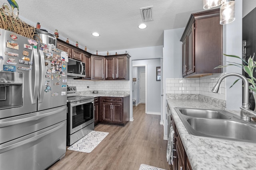
[{"label": "white tile backsplash behind the range, below the microwave and far cabinets", "polygon": [[130,91],[130,82],[127,80],[92,81],[68,78],[68,86],[76,86],[78,92],[93,90]]}]

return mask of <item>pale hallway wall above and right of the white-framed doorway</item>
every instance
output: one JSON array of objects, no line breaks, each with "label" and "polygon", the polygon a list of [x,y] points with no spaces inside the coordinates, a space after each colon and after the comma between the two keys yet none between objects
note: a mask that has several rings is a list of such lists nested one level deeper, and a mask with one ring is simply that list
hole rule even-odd
[{"label": "pale hallway wall above and right of the white-framed doorway", "polygon": [[[147,113],[161,113],[161,82],[156,81],[156,67],[160,66],[159,59],[134,60],[132,65],[147,65]],[[145,67],[139,67],[139,72],[145,72]]]}]

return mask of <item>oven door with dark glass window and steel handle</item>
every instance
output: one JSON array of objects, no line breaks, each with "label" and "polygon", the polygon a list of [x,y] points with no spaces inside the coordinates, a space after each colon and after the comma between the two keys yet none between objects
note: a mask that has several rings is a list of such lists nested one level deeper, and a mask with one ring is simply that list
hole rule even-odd
[{"label": "oven door with dark glass window and steel handle", "polygon": [[94,122],[94,102],[75,102],[70,104],[71,134]]}]

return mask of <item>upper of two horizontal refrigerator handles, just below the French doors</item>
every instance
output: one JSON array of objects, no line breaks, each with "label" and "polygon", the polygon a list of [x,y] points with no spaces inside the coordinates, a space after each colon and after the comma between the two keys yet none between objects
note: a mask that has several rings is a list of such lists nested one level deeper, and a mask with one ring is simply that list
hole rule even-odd
[{"label": "upper of two horizontal refrigerator handles, just below the French doors", "polygon": [[54,111],[46,112],[46,113],[43,113],[43,114],[40,114],[40,115],[34,115],[34,116],[30,116],[30,117],[25,117],[25,118],[22,118],[22,119],[16,119],[16,120],[2,122],[2,123],[0,123],[0,128],[15,125],[15,124],[19,124],[19,123],[24,123],[24,122],[28,122],[28,121],[34,121],[34,120],[42,119],[44,117],[54,115],[56,113],[60,113],[61,111],[64,111],[64,110],[66,110],[66,107],[62,107],[61,109],[56,109]]}]

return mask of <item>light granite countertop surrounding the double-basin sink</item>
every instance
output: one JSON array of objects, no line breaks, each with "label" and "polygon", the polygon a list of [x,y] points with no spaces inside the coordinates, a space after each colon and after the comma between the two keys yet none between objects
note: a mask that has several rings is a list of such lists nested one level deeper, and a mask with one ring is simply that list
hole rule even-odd
[{"label": "light granite countertop surrounding the double-basin sink", "polygon": [[[174,107],[219,109],[199,100],[167,99],[193,170],[256,170],[256,143],[198,137],[188,133]],[[239,111],[230,111],[239,115]]]}]

